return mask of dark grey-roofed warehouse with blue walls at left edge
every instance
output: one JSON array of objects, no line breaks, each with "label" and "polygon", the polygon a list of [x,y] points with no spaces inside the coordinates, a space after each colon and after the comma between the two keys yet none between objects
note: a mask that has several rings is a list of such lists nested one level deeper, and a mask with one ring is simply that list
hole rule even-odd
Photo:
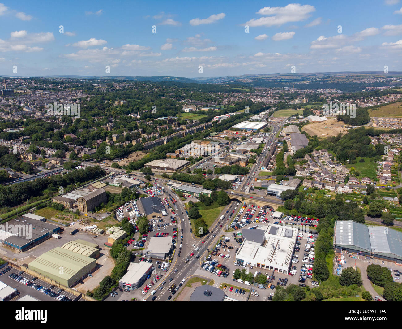
[{"label": "dark grey-roofed warehouse with blue walls at left edge", "polygon": [[23,252],[60,231],[59,226],[43,222],[41,216],[33,219],[31,215],[25,214],[0,225],[0,245]]}]

